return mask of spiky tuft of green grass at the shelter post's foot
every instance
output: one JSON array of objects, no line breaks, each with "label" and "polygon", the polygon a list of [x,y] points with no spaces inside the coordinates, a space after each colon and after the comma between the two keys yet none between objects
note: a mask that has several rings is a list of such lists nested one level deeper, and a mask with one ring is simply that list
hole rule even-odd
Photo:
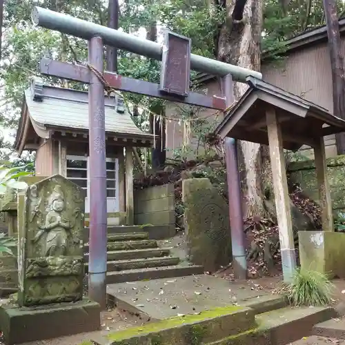
[{"label": "spiky tuft of green grass at the shelter post's foot", "polygon": [[287,295],[294,306],[327,306],[332,301],[333,284],[324,273],[297,268],[291,284],[284,284],[278,293]]}]

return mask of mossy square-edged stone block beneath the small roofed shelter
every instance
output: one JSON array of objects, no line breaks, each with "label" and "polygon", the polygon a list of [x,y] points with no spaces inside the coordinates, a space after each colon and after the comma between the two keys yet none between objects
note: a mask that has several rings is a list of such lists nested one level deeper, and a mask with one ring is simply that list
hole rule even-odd
[{"label": "mossy square-edged stone block beneath the small roofed shelter", "polygon": [[298,239],[301,268],[345,278],[345,233],[299,231]]}]

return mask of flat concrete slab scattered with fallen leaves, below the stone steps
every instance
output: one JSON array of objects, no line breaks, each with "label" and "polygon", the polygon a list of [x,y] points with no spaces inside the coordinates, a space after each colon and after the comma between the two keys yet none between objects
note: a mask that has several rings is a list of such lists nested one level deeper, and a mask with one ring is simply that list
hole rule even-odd
[{"label": "flat concrete slab scattered with fallen leaves, below the stone steps", "polygon": [[[119,308],[148,319],[194,314],[231,304],[248,305],[267,295],[247,282],[228,282],[210,275],[109,284],[107,293]],[[280,298],[280,297],[277,297]]]}]

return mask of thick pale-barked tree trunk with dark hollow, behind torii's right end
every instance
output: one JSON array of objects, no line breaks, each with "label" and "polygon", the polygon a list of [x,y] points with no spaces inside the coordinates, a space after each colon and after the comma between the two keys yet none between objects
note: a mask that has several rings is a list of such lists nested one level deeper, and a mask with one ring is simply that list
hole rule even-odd
[{"label": "thick pale-barked tree trunk with dark hollow, behind torii's right end", "polygon": [[[262,0],[221,1],[226,6],[226,22],[219,30],[217,59],[226,63],[260,70],[260,37],[262,33]],[[235,83],[238,100],[248,86]],[[239,145],[240,172],[244,190],[244,216],[264,215],[261,150],[259,144],[241,141]]]}]

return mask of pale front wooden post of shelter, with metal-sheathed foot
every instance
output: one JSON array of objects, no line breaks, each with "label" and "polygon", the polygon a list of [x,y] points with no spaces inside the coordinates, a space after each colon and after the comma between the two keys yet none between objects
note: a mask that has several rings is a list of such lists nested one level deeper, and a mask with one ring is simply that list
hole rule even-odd
[{"label": "pale front wooden post of shelter, with metal-sheathed foot", "polygon": [[293,222],[291,219],[290,197],[282,141],[282,130],[274,108],[266,110],[270,164],[272,166],[275,208],[279,227],[279,242],[282,253],[284,282],[291,282],[296,268]]}]

